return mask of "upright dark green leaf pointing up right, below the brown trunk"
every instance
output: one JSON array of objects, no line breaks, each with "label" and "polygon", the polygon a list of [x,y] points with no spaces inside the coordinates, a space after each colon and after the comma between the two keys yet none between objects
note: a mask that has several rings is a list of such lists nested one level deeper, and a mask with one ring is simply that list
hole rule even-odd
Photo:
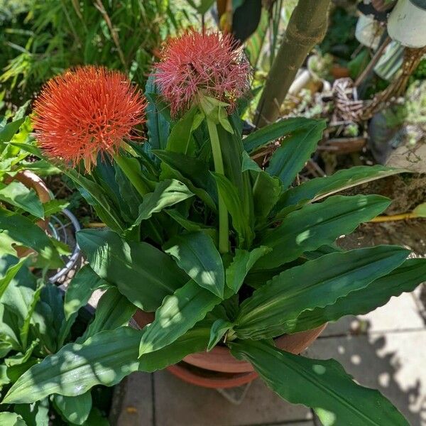
[{"label": "upright dark green leaf pointing up right, below the brown trunk", "polygon": [[310,159],[317,149],[326,128],[324,120],[314,121],[305,129],[295,131],[286,138],[280,148],[273,153],[266,171],[270,175],[278,176],[283,187],[289,187],[303,165]]}]

